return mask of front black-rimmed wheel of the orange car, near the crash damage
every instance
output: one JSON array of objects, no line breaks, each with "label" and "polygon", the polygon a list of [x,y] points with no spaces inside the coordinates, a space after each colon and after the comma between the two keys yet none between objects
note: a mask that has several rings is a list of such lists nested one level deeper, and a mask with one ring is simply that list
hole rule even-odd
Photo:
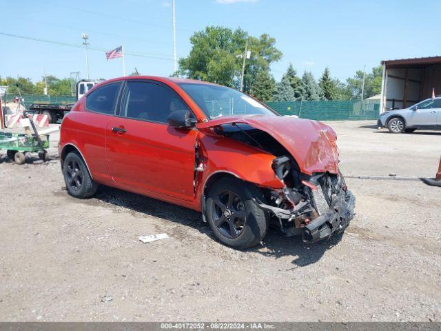
[{"label": "front black-rimmed wheel of the orange car, near the crash damage", "polygon": [[263,200],[256,186],[232,177],[218,179],[209,188],[205,213],[221,242],[243,250],[257,245],[265,237],[267,213],[252,201],[254,197]]}]

